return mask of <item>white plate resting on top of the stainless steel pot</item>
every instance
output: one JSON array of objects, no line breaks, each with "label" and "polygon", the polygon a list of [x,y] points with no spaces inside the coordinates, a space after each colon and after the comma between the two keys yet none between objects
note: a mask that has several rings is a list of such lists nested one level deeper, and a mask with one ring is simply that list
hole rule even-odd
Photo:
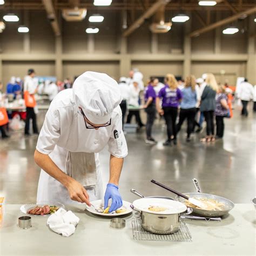
[{"label": "white plate resting on top of the stainless steel pot", "polygon": [[[162,198],[142,198],[137,199],[133,203],[134,208],[136,208],[139,211],[144,211],[148,213],[153,214],[176,214],[185,212],[187,210],[186,205],[183,203],[169,200],[169,199],[162,199]],[[165,211],[161,212],[153,212],[149,210],[150,206],[159,206],[159,207],[165,207],[167,208]]]}]

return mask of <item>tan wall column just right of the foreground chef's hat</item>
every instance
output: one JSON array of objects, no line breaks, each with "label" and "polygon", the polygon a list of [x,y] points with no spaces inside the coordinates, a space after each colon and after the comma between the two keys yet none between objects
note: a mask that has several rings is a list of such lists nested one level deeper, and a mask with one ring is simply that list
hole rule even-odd
[{"label": "tan wall column just right of the foreground chef's hat", "polygon": [[120,76],[127,76],[131,69],[131,58],[127,54],[127,37],[121,38],[120,45]]}]

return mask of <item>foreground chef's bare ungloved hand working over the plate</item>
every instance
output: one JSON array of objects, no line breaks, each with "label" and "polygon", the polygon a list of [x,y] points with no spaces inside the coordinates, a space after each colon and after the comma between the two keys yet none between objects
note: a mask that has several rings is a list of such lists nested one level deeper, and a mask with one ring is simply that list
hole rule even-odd
[{"label": "foreground chef's bare ungloved hand working over the plate", "polygon": [[78,201],[79,203],[85,203],[88,206],[91,206],[89,201],[89,194],[86,189],[73,178],[70,178],[68,185],[66,188],[69,191],[69,196],[72,200]]}]

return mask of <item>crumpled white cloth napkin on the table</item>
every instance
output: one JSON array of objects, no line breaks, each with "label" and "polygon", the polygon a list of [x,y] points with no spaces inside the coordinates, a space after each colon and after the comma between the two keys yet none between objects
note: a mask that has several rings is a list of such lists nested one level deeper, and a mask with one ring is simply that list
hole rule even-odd
[{"label": "crumpled white cloth napkin on the table", "polygon": [[71,211],[67,212],[65,209],[59,208],[48,218],[47,225],[53,232],[62,234],[63,237],[70,237],[71,234],[75,233],[79,220]]}]

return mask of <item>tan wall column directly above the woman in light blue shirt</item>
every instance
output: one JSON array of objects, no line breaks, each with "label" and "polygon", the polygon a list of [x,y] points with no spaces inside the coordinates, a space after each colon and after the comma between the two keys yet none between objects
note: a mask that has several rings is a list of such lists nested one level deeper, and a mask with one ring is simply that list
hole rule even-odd
[{"label": "tan wall column directly above the woman in light blue shirt", "polygon": [[[191,14],[188,14],[191,17]],[[183,62],[183,78],[191,74],[191,37],[189,35],[191,29],[191,19],[185,23],[184,34],[184,62]]]}]

